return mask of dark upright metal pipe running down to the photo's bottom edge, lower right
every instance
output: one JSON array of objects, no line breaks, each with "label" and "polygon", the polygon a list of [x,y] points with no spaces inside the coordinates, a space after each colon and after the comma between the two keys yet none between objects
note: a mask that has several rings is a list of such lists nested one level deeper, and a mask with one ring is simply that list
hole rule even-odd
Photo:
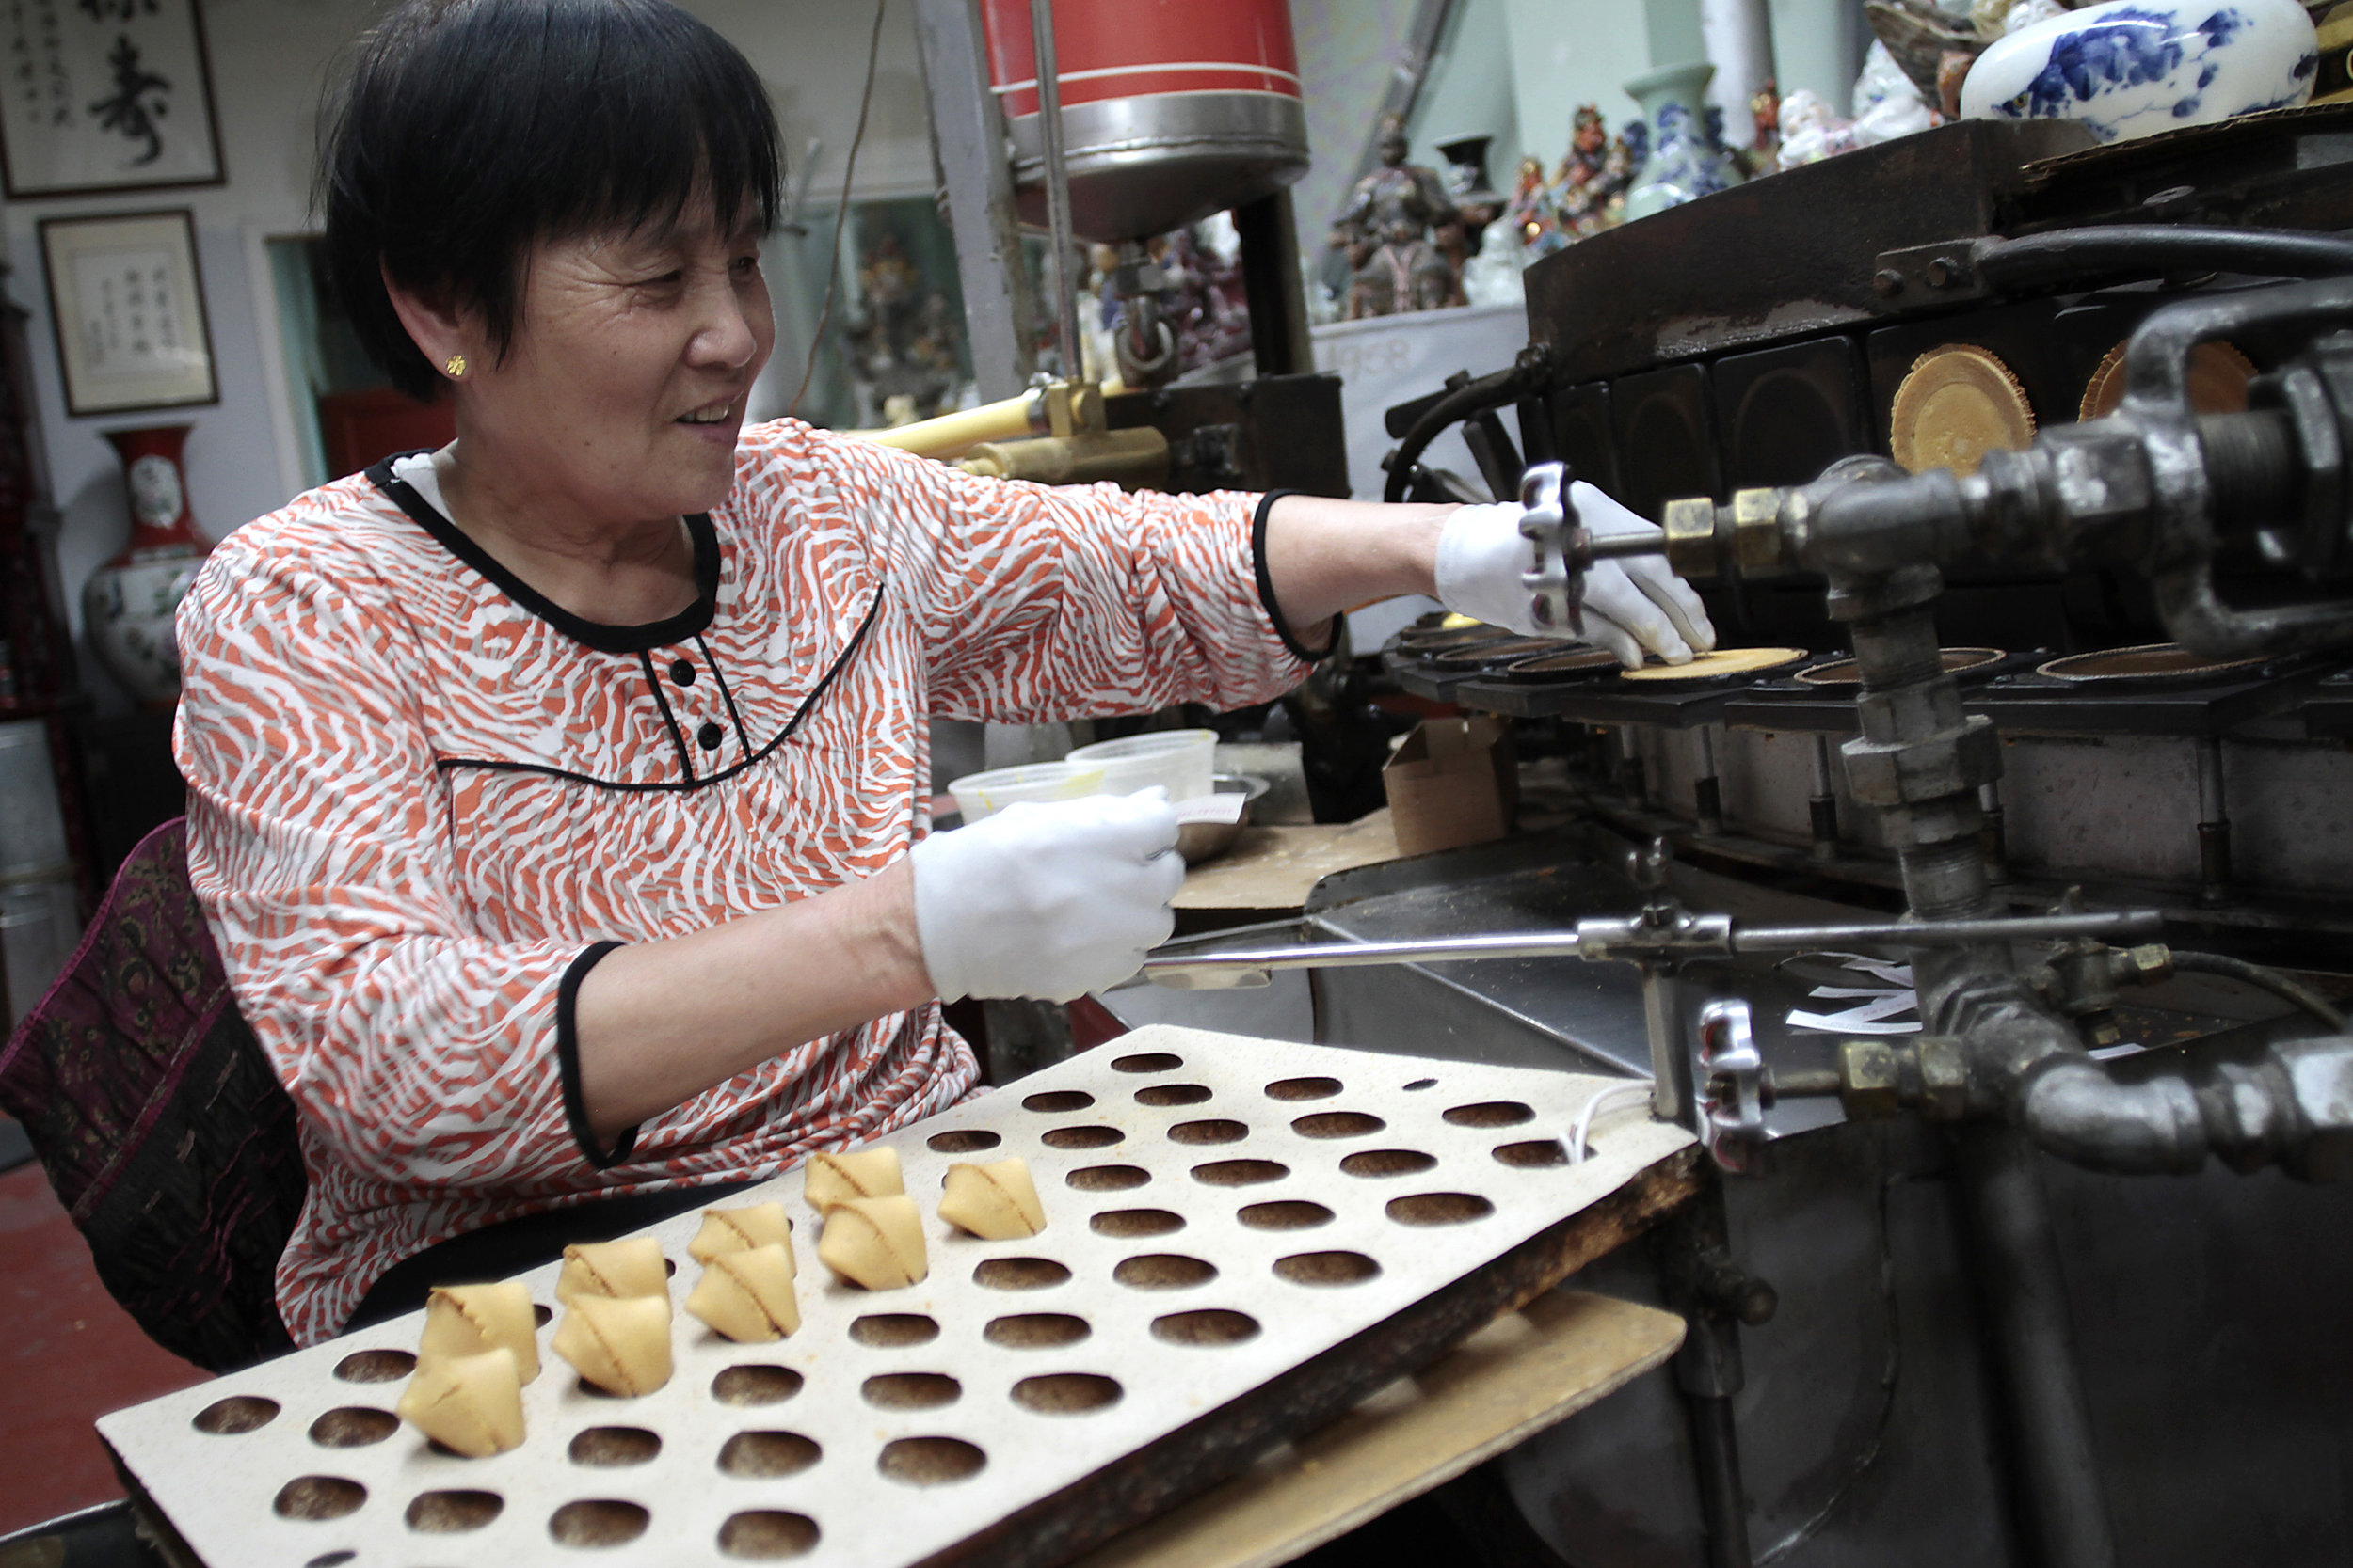
[{"label": "dark upright metal pipe running down to the photo's bottom edge, lower right", "polygon": [[2042,1568],[2113,1568],[2115,1535],[2092,1450],[2092,1410],[2033,1145],[2002,1124],[1955,1135],[1979,1300],[2017,1443],[2019,1526]]}]

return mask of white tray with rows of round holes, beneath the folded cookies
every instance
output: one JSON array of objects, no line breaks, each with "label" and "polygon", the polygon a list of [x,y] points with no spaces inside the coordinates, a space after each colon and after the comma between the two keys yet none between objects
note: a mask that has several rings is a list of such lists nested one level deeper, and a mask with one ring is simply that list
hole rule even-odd
[{"label": "white tray with rows of round holes, beneath the folded cookies", "polygon": [[[927,1215],[913,1288],[831,1279],[798,1171],[736,1199],[795,1220],[800,1333],[729,1345],[680,1312],[668,1387],[609,1399],[544,1331],[515,1453],[454,1458],[391,1418],[416,1314],[99,1432],[212,1568],[1061,1561],[1548,1284],[1572,1215],[1687,1171],[1689,1133],[1638,1107],[1562,1161],[1609,1084],[1148,1027],[885,1138]],[[1007,1154],[1045,1234],[932,1215],[951,1161]],[[675,1302],[696,1222],[647,1232]],[[553,1309],[555,1267],[522,1279]]]}]

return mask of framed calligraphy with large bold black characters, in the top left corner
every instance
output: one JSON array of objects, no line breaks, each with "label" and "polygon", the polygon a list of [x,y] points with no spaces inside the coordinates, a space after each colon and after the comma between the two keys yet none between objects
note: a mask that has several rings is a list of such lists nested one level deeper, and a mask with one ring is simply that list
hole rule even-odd
[{"label": "framed calligraphy with large bold black characters, in the top left corner", "polygon": [[219,186],[198,0],[0,0],[9,200]]}]

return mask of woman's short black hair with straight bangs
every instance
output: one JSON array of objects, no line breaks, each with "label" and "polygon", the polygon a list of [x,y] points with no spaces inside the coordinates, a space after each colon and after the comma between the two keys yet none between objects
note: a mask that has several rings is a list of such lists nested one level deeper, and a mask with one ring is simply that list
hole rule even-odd
[{"label": "woman's short black hair with straight bangs", "polygon": [[384,292],[482,313],[513,346],[541,240],[664,230],[708,195],[720,233],[776,226],[784,153],[751,61],[668,0],[407,0],[325,103],[327,270],[412,397],[442,378]]}]

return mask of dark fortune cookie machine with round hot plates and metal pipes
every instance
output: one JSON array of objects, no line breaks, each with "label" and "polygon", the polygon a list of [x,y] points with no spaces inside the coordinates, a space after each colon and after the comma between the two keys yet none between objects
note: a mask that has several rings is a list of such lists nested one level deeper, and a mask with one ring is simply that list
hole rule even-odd
[{"label": "dark fortune cookie machine with round hot plates and metal pipes", "polygon": [[2346,106],[1958,122],[1537,263],[1518,362],[1393,411],[1391,496],[1518,498],[1560,637],[1664,548],[1784,649],[1400,632],[1558,825],[1148,966],[1704,1135],[1586,1276],[1689,1316],[1673,1373],[1504,1460],[1567,1561],[2353,1552],[2348,228]]}]

